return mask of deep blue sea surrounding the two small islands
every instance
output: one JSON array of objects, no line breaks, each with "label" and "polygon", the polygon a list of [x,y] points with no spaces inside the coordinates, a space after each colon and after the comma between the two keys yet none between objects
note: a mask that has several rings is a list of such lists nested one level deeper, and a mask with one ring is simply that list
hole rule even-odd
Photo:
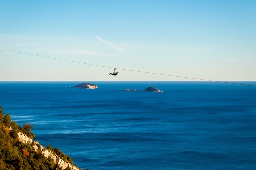
[{"label": "deep blue sea surrounding the two small islands", "polygon": [[[79,83],[98,89],[72,88]],[[164,92],[122,91],[149,86]],[[0,82],[0,106],[20,126],[33,124],[40,144],[60,148],[84,170],[256,169],[256,87]]]}]

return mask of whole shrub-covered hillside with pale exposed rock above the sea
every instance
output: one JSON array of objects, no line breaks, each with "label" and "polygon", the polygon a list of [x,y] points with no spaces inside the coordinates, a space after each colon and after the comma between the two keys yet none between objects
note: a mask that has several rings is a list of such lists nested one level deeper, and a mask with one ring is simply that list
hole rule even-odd
[{"label": "whole shrub-covered hillside with pale exposed rock above the sea", "polygon": [[[33,141],[33,125],[11,122],[0,106],[0,170],[79,170],[70,156],[48,144],[47,149]],[[81,170],[81,169],[80,169]]]}]

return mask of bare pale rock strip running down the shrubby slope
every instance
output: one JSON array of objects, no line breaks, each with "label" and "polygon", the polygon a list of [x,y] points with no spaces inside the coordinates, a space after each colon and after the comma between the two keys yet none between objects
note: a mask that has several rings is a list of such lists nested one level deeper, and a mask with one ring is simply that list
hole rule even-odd
[{"label": "bare pale rock strip running down the shrubby slope", "polygon": [[51,157],[54,162],[56,164],[59,165],[60,168],[62,168],[63,170],[79,170],[79,168],[75,167],[74,165],[65,162],[64,160],[60,159],[59,156],[57,156],[56,154],[54,154],[53,152],[47,150],[46,148],[44,148],[44,146],[42,146],[41,144],[38,143],[38,141],[33,141],[32,139],[30,139],[28,136],[24,135],[23,133],[19,132],[18,133],[18,139],[22,142],[22,143],[29,143],[32,144],[34,149],[38,152],[40,152],[41,154],[43,154],[45,157]]}]

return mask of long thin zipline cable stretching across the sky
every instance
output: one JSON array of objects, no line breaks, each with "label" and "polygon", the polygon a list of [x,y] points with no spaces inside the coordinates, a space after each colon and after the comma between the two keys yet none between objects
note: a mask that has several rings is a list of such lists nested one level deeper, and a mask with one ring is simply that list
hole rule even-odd
[{"label": "long thin zipline cable stretching across the sky", "polygon": [[[67,59],[60,59],[60,58],[47,57],[47,56],[42,56],[42,55],[35,55],[35,54],[30,54],[30,53],[23,53],[23,52],[19,52],[19,51],[6,50],[6,49],[2,49],[2,48],[0,48],[0,50],[11,51],[11,52],[14,52],[14,53],[21,53],[21,54],[26,54],[26,55],[38,56],[38,57],[44,57],[44,58],[57,59],[57,60],[62,60],[62,61],[69,61],[69,62],[73,62],[73,63],[87,64],[87,65],[91,65],[91,66],[106,67],[106,68],[111,68],[111,69],[113,68],[113,67],[101,66],[101,65],[97,65],[97,64],[83,63],[83,62],[79,62],[79,61],[72,61],[72,60],[67,60]],[[178,76],[178,75],[160,74],[160,73],[154,73],[154,72],[137,71],[137,70],[122,69],[122,68],[116,68],[116,69],[125,70],[125,71],[148,73],[148,74],[157,74],[157,75],[165,75],[165,76],[172,76],[172,77],[180,77],[180,78],[186,78],[186,79],[204,80],[204,81],[210,81],[210,82],[229,83],[229,84],[236,84],[236,85],[245,85],[245,86],[256,87],[256,85],[249,85],[249,84],[223,82],[223,81],[208,80],[208,79],[198,79],[198,78],[194,78],[194,77],[184,77],[184,76]]]}]

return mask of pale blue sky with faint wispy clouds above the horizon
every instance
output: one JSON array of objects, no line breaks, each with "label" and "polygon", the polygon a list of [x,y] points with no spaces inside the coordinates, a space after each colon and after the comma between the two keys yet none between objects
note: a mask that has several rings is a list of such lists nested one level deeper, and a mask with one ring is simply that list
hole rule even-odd
[{"label": "pale blue sky with faint wispy clouds above the horizon", "polygon": [[[256,80],[256,0],[0,0],[0,48],[200,79]],[[110,72],[0,50],[0,81],[190,80]]]}]

